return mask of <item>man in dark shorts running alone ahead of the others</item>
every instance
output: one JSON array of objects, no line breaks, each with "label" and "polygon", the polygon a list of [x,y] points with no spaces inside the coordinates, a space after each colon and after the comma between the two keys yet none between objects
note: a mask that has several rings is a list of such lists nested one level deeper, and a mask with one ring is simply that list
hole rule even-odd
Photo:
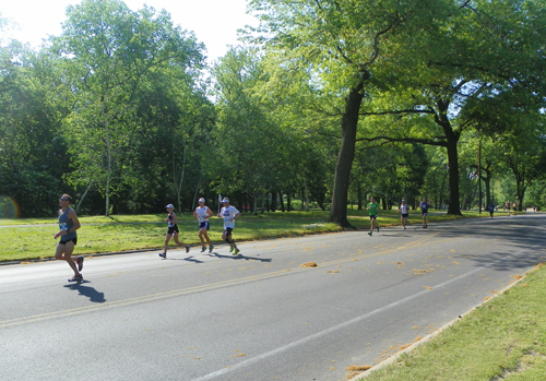
[{"label": "man in dark shorts running alone ahead of the others", "polygon": [[83,257],[80,255],[76,260],[72,258],[74,247],[78,243],[78,235],[75,230],[78,230],[82,225],[78,219],[75,211],[70,207],[71,202],[72,198],[68,194],[63,194],[59,199],[59,206],[61,207],[59,210],[60,230],[55,235],[55,239],[59,237],[61,238],[57,245],[55,259],[67,261],[69,266],[74,272],[74,276],[72,276],[69,282],[83,281],[83,276],[80,273],[83,269]]}]

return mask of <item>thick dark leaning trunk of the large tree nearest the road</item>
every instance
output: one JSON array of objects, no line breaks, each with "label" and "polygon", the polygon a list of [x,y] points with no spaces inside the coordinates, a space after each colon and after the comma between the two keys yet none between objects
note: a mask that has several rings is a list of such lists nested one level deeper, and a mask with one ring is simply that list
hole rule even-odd
[{"label": "thick dark leaning trunk of the large tree nearest the road", "polygon": [[337,163],[335,165],[334,189],[332,194],[332,207],[330,210],[330,222],[344,228],[353,228],[347,219],[347,193],[351,169],[355,157],[356,129],[358,126],[358,111],[363,102],[364,76],[358,84],[351,90],[345,98],[345,112],[341,121],[342,142]]}]

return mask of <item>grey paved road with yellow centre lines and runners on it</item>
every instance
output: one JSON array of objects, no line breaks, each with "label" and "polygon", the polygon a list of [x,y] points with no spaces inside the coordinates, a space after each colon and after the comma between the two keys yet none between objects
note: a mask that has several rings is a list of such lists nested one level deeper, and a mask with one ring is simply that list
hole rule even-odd
[{"label": "grey paved road with yellow centre lines and runners on it", "polygon": [[543,262],[545,223],[245,242],[237,258],[87,258],[81,285],[63,262],[0,266],[0,379],[345,380]]}]

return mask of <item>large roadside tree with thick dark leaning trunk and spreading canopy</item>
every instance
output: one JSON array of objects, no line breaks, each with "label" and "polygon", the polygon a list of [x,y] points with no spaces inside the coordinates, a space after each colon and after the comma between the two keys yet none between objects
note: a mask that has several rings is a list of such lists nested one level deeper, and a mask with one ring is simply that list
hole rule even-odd
[{"label": "large roadside tree with thick dark leaning trunk and spreading canopy", "polygon": [[349,227],[347,191],[357,127],[363,99],[369,94],[369,87],[377,85],[375,71],[403,53],[404,31],[418,33],[434,24],[434,17],[439,16],[444,4],[438,1],[253,0],[249,7],[259,13],[259,31],[264,33],[256,41],[287,61],[298,62],[299,68],[312,68],[316,81],[320,81],[330,96],[343,103],[330,221]]}]

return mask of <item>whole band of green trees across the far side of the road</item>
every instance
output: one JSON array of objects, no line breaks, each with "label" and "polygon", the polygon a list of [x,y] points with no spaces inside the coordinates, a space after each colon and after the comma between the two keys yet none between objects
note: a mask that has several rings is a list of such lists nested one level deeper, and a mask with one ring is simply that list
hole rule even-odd
[{"label": "whole band of green trees across the far side of the road", "polygon": [[167,11],[117,0],[70,5],[39,49],[1,40],[0,194],[49,216],[63,192],[105,215],[222,193],[344,227],[370,195],[546,205],[544,0],[248,8],[212,66]]}]

